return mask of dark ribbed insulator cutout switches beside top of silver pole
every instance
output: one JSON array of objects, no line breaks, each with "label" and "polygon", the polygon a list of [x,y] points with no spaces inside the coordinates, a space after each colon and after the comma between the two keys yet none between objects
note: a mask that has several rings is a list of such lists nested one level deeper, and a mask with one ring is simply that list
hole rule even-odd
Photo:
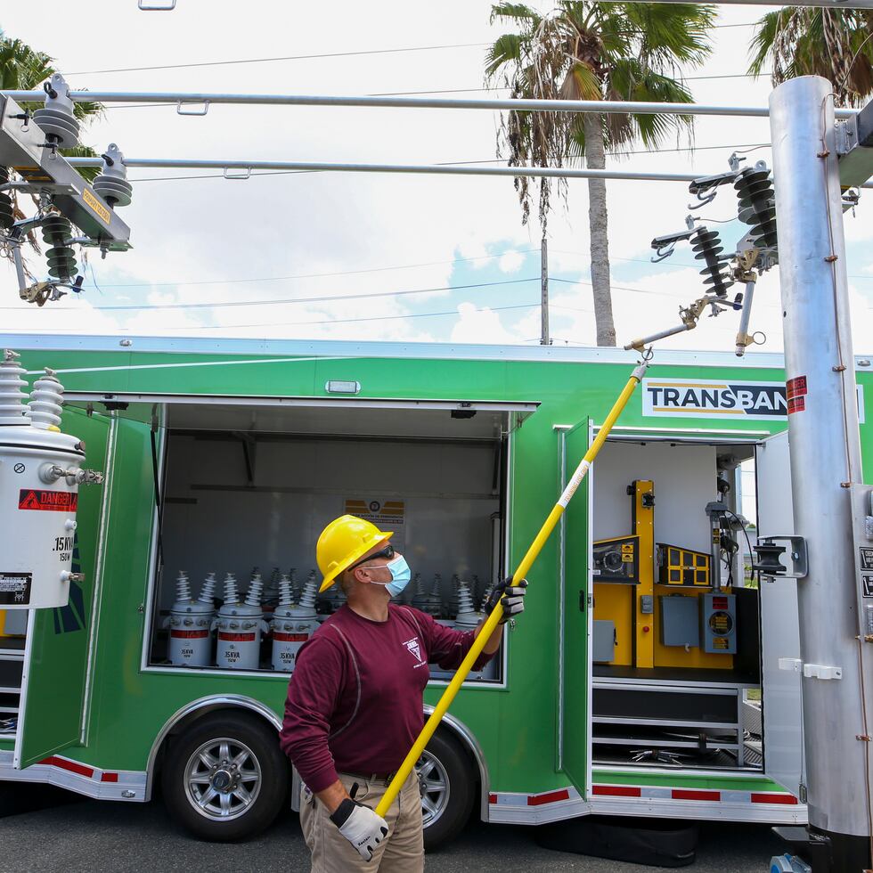
[{"label": "dark ribbed insulator cutout switches beside top of silver pole", "polygon": [[[690,242],[694,257],[704,262],[700,275],[706,277],[704,279],[706,294],[689,303],[688,306],[680,306],[681,324],[651,334],[649,337],[634,339],[624,347],[625,349],[641,349],[658,339],[672,337],[686,330],[694,330],[707,307],[711,310],[711,318],[722,314],[726,309],[739,310],[736,342],[738,357],[745,355],[748,346],[761,345],[765,341],[763,334],[761,334],[762,339],[757,339],[758,334],[750,334],[748,327],[758,273],[769,270],[778,260],[776,205],[767,165],[763,161],[758,161],[755,167],[740,169],[741,160],[743,159],[733,154],[730,156],[728,172],[703,176],[689,184],[689,192],[697,198],[696,203],[689,204],[689,209],[699,209],[712,203],[722,185],[732,184],[737,192],[737,217],[743,224],[749,225],[748,232],[738,241],[737,249],[732,255],[724,254],[719,234],[709,230],[706,224],[696,224],[693,216],[686,217],[686,230],[667,233],[652,240],[652,248],[656,250],[655,257],[652,257],[654,264],[670,257],[678,242]],[[746,290],[738,293],[733,300],[729,300],[727,290],[738,281],[745,283]]]}]

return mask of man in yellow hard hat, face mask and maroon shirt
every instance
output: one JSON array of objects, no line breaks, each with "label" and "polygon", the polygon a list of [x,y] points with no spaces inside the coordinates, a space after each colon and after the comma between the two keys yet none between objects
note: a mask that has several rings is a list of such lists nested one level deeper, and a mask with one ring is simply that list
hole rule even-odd
[{"label": "man in yellow hard hat, face mask and maroon shirt", "polygon": [[[389,602],[411,575],[390,536],[345,515],[318,538],[321,591],[339,582],[347,603],[298,652],[280,739],[304,782],[300,825],[314,873],[424,869],[415,772],[385,819],[374,808],[424,725],[428,663],[458,667],[481,628],[455,631]],[[487,607],[502,600],[504,621],[525,608],[526,581],[510,581],[496,586]],[[502,632],[501,624],[475,668],[494,656]]]}]

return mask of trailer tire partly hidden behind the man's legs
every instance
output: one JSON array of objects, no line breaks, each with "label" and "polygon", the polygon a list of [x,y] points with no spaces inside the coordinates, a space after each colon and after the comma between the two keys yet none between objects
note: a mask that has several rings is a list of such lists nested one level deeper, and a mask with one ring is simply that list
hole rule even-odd
[{"label": "trailer tire partly hidden behind the man's legs", "polygon": [[460,743],[445,730],[430,738],[415,771],[421,787],[424,847],[433,852],[458,836],[469,821],[476,773]]}]

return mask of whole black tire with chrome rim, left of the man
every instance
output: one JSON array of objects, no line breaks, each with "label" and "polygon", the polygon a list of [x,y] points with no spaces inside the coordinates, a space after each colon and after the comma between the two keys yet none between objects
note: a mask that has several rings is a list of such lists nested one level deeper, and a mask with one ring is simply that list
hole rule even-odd
[{"label": "whole black tire with chrome rim, left of the man", "polygon": [[288,774],[275,730],[225,711],[204,716],[172,739],[161,785],[167,809],[186,830],[227,843],[273,824],[288,794]]}]

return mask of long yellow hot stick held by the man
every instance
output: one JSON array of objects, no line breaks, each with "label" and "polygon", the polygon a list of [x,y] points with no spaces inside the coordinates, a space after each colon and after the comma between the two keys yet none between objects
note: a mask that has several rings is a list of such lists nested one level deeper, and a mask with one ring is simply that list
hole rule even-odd
[{"label": "long yellow hot stick held by the man", "polygon": [[[592,461],[597,457],[597,453],[600,452],[601,446],[606,442],[606,438],[609,436],[609,431],[616,423],[618,416],[621,415],[628,400],[631,399],[634,389],[640,384],[640,380],[645,374],[648,366],[649,362],[644,360],[643,363],[640,363],[640,366],[632,372],[631,378],[627,380],[627,385],[624,386],[624,390],[618,396],[615,405],[609,411],[607,419],[603,422],[603,426],[600,428],[594,442],[585,453],[585,457],[580,461],[579,466],[575,469],[575,473],[570,477],[570,481],[567,482],[567,487],[564,489],[563,494],[560,495],[558,502],[549,513],[549,518],[546,518],[543,526],[540,528],[540,532],[534,537],[534,542],[531,543],[525,557],[521,560],[515,573],[512,574],[513,580],[524,579],[530,568],[533,566],[534,560],[536,560],[540,551],[543,550],[543,546],[545,545],[546,540],[549,539],[555,526],[558,525],[560,517],[564,514],[564,510],[567,509],[567,503],[570,502],[576,489],[581,484],[585,474],[592,465]],[[394,803],[396,796],[400,793],[400,789],[406,781],[406,778],[412,772],[412,768],[421,757],[424,747],[428,745],[428,740],[434,735],[436,728],[439,727],[439,722],[442,721],[443,716],[448,712],[449,706],[452,706],[452,701],[454,700],[455,695],[461,688],[463,681],[467,678],[467,675],[477,657],[482,653],[482,649],[485,649],[485,643],[491,638],[491,634],[494,633],[494,629],[497,627],[502,616],[503,607],[500,601],[498,601],[497,606],[494,607],[494,611],[487,617],[487,619],[485,619],[485,624],[482,625],[482,629],[478,632],[476,639],[473,640],[473,645],[470,647],[467,657],[465,657],[461,662],[461,666],[458,667],[452,681],[450,681],[446,686],[443,696],[439,698],[439,702],[436,704],[433,713],[430,715],[430,718],[428,718],[428,721],[425,722],[418,738],[412,744],[409,754],[404,758],[404,763],[400,765],[400,769],[396,772],[394,779],[391,780],[391,784],[386,789],[385,794],[382,795],[382,799],[376,807],[376,812],[378,812],[379,815],[384,817],[391,804]]]}]

